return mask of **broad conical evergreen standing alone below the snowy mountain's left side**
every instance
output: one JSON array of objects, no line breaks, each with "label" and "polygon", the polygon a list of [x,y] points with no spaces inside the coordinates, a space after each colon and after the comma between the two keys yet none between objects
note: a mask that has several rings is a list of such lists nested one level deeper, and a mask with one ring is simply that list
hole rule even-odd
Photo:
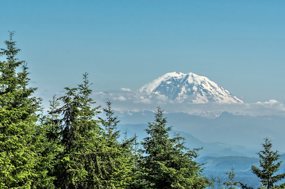
[{"label": "broad conical evergreen standing alone below the snowy mountain's left side", "polygon": [[198,157],[198,149],[185,148],[184,138],[179,134],[169,138],[171,127],[166,127],[163,110],[159,107],[155,118],[156,122],[148,123],[146,129],[150,136],[141,143],[145,153],[140,162],[141,178],[137,181],[141,188],[199,189],[211,184],[200,174],[201,165],[193,160]]}]

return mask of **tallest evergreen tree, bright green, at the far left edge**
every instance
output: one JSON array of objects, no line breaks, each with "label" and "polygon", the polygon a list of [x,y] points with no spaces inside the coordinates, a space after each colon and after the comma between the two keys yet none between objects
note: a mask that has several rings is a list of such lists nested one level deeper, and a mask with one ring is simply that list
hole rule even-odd
[{"label": "tallest evergreen tree, bright green, at the far left edge", "polygon": [[[0,188],[41,188],[49,185],[45,167],[39,166],[44,147],[42,128],[36,124],[40,99],[31,95],[36,88],[29,87],[27,64],[16,55],[20,49],[12,40],[5,41],[7,49],[0,55]],[[22,71],[16,70],[22,65]]]}]

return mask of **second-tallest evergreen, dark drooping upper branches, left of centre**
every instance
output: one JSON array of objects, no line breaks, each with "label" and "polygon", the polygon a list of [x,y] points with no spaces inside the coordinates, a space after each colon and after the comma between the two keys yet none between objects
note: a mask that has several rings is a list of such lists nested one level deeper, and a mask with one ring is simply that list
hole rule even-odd
[{"label": "second-tallest evergreen, dark drooping upper branches, left of centre", "polygon": [[56,166],[58,188],[101,188],[102,129],[94,120],[99,107],[91,107],[95,102],[90,98],[87,74],[83,79],[78,88],[65,88],[66,95],[58,98],[64,105],[51,111],[62,114],[58,120],[62,147]]}]

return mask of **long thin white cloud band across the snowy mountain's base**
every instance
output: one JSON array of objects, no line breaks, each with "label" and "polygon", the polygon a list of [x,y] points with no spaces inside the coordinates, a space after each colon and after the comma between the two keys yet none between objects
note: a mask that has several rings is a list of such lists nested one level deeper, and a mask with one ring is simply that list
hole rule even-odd
[{"label": "long thin white cloud band across the snowy mountain's base", "polygon": [[132,109],[153,110],[160,106],[169,113],[184,112],[184,113],[213,113],[219,115],[223,111],[227,111],[237,115],[278,115],[285,116],[285,105],[276,100],[268,100],[266,102],[244,103],[244,104],[191,104],[191,103],[176,103],[164,95],[151,94],[138,95],[135,92],[121,90],[112,92],[96,92],[93,93],[93,99],[98,105],[105,105],[106,99],[114,100],[112,108],[114,110],[127,111]]}]

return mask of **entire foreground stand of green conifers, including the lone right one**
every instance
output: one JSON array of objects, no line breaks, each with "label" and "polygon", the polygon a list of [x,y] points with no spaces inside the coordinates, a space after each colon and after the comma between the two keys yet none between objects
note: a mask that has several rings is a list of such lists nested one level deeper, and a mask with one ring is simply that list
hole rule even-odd
[{"label": "entire foreground stand of green conifers, including the lone right one", "polygon": [[[178,133],[170,138],[172,128],[160,107],[145,129],[149,137],[139,142],[125,132],[120,140],[112,103],[95,105],[87,73],[82,84],[53,96],[44,113],[36,88],[29,86],[27,63],[17,59],[13,36],[10,32],[0,49],[6,58],[0,61],[0,188],[251,188],[249,180],[234,181],[232,166],[226,177],[207,178],[204,164],[196,161],[200,149],[186,148]],[[98,117],[100,110],[106,119]],[[259,188],[285,188],[276,185],[285,173],[276,174],[282,162],[271,147],[266,138],[259,166],[251,171]]]}]

